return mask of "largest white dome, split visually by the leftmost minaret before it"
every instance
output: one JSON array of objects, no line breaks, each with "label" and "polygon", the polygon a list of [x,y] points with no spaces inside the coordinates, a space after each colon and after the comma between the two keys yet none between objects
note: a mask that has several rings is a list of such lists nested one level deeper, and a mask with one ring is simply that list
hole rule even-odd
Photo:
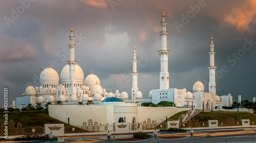
[{"label": "largest white dome, split visually by the leftmost minaret before it", "polygon": [[[84,75],[83,75],[83,71],[82,71],[81,67],[76,64],[76,69],[75,70],[76,70],[75,80],[76,81],[83,81]],[[68,64],[61,70],[60,81],[61,82],[69,81],[69,65]]]}]

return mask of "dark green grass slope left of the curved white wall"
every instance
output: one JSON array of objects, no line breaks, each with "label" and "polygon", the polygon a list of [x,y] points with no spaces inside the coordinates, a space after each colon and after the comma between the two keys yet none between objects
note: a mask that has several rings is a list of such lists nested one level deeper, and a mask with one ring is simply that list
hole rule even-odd
[{"label": "dark green grass slope left of the curved white wall", "polygon": [[[44,124],[65,124],[50,117],[45,110],[40,111],[13,111],[8,113],[8,121],[13,120],[15,126],[21,123],[22,126],[43,126]],[[4,112],[0,112],[0,125],[5,121]]]}]

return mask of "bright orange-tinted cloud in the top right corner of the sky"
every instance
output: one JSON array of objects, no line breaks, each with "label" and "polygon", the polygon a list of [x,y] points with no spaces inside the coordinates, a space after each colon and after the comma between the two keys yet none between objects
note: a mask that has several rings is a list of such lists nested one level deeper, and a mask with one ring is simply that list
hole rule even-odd
[{"label": "bright orange-tinted cloud in the top right corner of the sky", "polygon": [[237,28],[248,30],[249,23],[255,22],[253,17],[256,15],[256,1],[241,2],[242,4],[239,7],[233,8],[231,13],[224,18],[224,22],[236,25]]}]

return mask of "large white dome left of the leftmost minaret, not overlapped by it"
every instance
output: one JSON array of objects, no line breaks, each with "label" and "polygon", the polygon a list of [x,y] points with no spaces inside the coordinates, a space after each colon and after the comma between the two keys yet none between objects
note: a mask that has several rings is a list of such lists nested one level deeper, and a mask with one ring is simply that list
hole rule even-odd
[{"label": "large white dome left of the leftmost minaret, not overlapped by it", "polygon": [[40,82],[59,82],[59,75],[54,69],[46,68],[40,74]]}]

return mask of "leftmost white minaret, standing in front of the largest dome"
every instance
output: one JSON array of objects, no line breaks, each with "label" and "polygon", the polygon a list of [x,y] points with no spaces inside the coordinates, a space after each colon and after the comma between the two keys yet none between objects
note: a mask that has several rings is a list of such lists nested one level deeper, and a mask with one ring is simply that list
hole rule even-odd
[{"label": "leftmost white minaret, standing in front of the largest dome", "polygon": [[[72,96],[73,94],[76,95],[76,83],[75,83],[75,69],[76,69],[76,63],[75,61],[75,47],[76,45],[74,44],[74,39],[75,36],[73,36],[73,27],[71,25],[71,36],[69,36],[70,44],[69,44],[69,49],[70,49],[70,60],[68,61],[69,65],[69,96]],[[69,98],[70,102],[70,98]]]}]

